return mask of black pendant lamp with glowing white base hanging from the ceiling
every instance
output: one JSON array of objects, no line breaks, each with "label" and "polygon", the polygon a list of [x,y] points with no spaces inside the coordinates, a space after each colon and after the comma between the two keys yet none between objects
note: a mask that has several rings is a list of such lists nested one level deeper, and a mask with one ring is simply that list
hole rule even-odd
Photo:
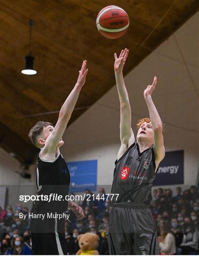
[{"label": "black pendant lamp with glowing white base hanging from the ceiling", "polygon": [[29,55],[27,55],[25,57],[25,59],[26,59],[25,69],[23,69],[21,71],[21,73],[31,75],[31,74],[36,74],[37,73],[36,70],[34,70],[34,68],[33,68],[33,63],[34,63],[35,58],[32,56],[32,50],[31,50],[31,46],[32,46],[32,27],[33,27],[33,20],[32,19],[29,20],[28,25],[30,27],[30,34],[29,34],[30,50],[29,50]]}]

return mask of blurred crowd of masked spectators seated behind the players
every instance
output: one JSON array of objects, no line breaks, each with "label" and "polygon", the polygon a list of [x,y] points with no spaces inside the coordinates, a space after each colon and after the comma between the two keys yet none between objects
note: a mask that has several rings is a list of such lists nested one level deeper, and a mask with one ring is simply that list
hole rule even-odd
[{"label": "blurred crowd of masked spectators seated behind the players", "polygon": [[[199,254],[199,193],[195,186],[182,192],[176,188],[158,188],[153,191],[150,209],[154,217],[160,245],[160,255],[198,255]],[[92,195],[89,190],[85,194]],[[65,221],[65,238],[69,255],[79,250],[78,235],[91,232],[99,236],[99,254],[109,255],[109,211],[111,201],[103,199],[104,188],[99,188],[99,199],[90,196],[90,201],[75,202],[84,209],[85,218],[78,220],[72,210],[70,221]],[[102,198],[102,199],[100,199]],[[106,197],[105,197],[106,198]],[[30,219],[20,219],[19,213],[29,212],[27,207],[17,204],[3,210],[0,207],[0,255],[31,255]]]}]

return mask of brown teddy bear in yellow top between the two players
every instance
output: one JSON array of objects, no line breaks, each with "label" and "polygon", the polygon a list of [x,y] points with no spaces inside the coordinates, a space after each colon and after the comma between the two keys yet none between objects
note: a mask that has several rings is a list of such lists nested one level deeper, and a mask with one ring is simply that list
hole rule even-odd
[{"label": "brown teddy bear in yellow top between the two players", "polygon": [[78,236],[80,250],[76,255],[99,255],[99,236],[92,233],[85,233]]}]

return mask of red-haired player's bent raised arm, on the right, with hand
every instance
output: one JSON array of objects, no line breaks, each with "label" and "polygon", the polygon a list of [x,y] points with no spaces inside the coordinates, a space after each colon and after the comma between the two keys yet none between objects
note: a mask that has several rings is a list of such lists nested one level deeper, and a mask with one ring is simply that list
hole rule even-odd
[{"label": "red-haired player's bent raised arm, on the right, with hand", "polygon": [[149,116],[151,119],[152,128],[154,130],[154,153],[155,153],[155,164],[156,169],[159,163],[163,160],[165,155],[164,149],[164,140],[163,140],[163,125],[158,114],[157,109],[155,108],[154,102],[152,100],[152,93],[155,89],[157,83],[157,77],[154,77],[154,82],[152,85],[148,85],[144,91],[144,97],[146,105],[149,110]]}]

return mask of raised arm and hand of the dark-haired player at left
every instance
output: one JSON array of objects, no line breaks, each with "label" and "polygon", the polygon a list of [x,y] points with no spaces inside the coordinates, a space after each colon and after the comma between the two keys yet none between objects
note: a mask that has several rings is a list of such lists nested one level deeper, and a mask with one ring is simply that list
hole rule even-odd
[{"label": "raised arm and hand of the dark-haired player at left", "polygon": [[86,68],[86,61],[83,61],[81,70],[79,71],[79,77],[78,80],[72,89],[71,93],[63,103],[63,106],[59,112],[59,118],[57,120],[57,123],[52,131],[52,133],[47,137],[45,141],[44,149],[42,150],[43,155],[45,154],[51,154],[56,151],[57,145],[63,136],[63,132],[66,129],[66,126],[68,124],[68,121],[71,118],[72,111],[74,110],[75,104],[77,102],[77,99],[79,97],[81,88],[83,87],[86,75],[88,73],[88,69]]}]

